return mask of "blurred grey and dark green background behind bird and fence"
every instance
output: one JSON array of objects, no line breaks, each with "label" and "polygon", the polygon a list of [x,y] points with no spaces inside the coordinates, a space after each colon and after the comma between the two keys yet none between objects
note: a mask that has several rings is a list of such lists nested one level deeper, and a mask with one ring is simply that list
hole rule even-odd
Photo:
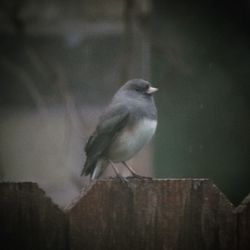
[{"label": "blurred grey and dark green background behind bird and fence", "polygon": [[0,76],[1,181],[69,204],[99,115],[144,78],[159,123],[137,172],[210,178],[234,204],[250,191],[249,0],[1,0]]}]

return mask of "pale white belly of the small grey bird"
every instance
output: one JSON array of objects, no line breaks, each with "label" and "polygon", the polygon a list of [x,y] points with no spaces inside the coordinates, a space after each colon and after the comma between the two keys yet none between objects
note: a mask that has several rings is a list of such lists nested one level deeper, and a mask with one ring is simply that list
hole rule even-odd
[{"label": "pale white belly of the small grey bird", "polygon": [[127,161],[149,142],[155,133],[157,121],[144,119],[131,130],[125,130],[111,145],[108,158],[113,162]]}]

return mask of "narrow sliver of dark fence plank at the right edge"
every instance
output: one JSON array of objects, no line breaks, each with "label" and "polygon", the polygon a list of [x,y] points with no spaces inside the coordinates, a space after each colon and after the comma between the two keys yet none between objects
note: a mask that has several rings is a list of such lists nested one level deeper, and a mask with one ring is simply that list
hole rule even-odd
[{"label": "narrow sliver of dark fence plank at the right edge", "polygon": [[238,250],[250,249],[250,194],[236,209],[238,216]]}]

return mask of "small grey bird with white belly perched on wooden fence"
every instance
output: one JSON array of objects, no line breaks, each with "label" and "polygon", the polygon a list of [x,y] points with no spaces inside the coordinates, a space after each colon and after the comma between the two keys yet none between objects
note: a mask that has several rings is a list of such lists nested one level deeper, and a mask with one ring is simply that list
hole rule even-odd
[{"label": "small grey bird with white belly perched on wooden fence", "polygon": [[152,94],[157,90],[145,80],[132,79],[116,92],[85,146],[87,159],[81,175],[96,179],[111,164],[122,178],[114,165],[122,162],[133,176],[138,176],[126,161],[155,133],[157,110]]}]

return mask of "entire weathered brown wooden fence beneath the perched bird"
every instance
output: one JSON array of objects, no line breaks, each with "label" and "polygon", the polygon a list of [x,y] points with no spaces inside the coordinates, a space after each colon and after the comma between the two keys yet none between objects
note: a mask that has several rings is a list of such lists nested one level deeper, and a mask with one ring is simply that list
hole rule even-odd
[{"label": "entire weathered brown wooden fence beneath the perched bird", "polygon": [[0,184],[0,249],[250,249],[250,196],[206,179],[99,180],[61,210],[35,183]]}]

